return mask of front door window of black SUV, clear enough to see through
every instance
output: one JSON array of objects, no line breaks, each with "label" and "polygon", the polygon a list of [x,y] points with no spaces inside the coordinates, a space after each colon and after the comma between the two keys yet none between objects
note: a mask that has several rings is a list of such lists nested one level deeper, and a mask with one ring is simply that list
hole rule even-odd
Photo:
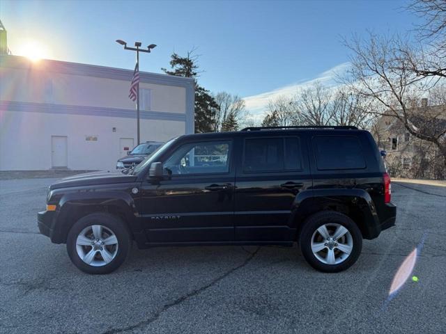
[{"label": "front door window of black SUV, clear enough to see through", "polygon": [[229,172],[231,141],[206,141],[180,146],[164,162],[169,175]]}]

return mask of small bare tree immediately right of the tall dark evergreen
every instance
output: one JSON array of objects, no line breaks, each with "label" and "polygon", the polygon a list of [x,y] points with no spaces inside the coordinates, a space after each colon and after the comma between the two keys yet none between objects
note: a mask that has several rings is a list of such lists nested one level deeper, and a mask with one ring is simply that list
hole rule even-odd
[{"label": "small bare tree immediately right of the tall dark evergreen", "polygon": [[226,92],[217,93],[213,97],[218,105],[213,121],[214,131],[236,130],[247,116],[245,100],[242,100],[238,95],[231,95]]}]

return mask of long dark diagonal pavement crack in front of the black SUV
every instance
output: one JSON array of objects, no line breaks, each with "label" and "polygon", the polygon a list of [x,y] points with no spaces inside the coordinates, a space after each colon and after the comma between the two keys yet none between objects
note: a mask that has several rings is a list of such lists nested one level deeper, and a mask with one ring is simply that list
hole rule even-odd
[{"label": "long dark diagonal pavement crack in front of the black SUV", "polygon": [[164,304],[162,306],[162,308],[160,308],[160,310],[155,312],[155,314],[152,315],[151,317],[149,317],[148,319],[144,319],[142,321],[139,321],[137,324],[123,327],[123,328],[111,328],[105,332],[102,332],[102,334],[123,333],[123,332],[132,331],[134,329],[141,328],[143,326],[148,326],[148,325],[152,324],[154,321],[159,319],[164,312],[167,312],[170,308],[173,308],[174,306],[179,305],[180,303],[183,303],[184,301],[187,301],[188,299],[191,299],[192,297],[201,294],[201,292],[206,291],[206,289],[209,289],[210,287],[213,287],[213,285],[216,285],[221,280],[223,280],[227,276],[231,275],[231,273],[233,273],[234,271],[237,271],[238,269],[245,267],[254,258],[254,256],[259,252],[260,248],[261,247],[259,246],[256,250],[254,250],[254,252],[249,253],[248,257],[245,259],[245,261],[243,261],[242,264],[239,264],[237,267],[233,267],[229,271],[226,271],[222,275],[220,275],[217,278],[215,278],[214,280],[212,280],[210,283],[203,285],[202,287],[199,287],[198,289],[194,289],[191,292],[178,297],[174,301],[171,301],[170,303]]}]

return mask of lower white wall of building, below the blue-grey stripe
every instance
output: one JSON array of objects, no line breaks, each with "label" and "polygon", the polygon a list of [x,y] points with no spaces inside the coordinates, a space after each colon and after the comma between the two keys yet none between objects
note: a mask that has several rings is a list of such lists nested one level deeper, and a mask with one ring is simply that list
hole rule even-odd
[{"label": "lower white wall of building, below the blue-grey stripe", "polygon": [[[0,119],[0,170],[52,168],[51,136],[68,137],[72,170],[112,170],[120,158],[119,138],[137,142],[133,118],[0,111]],[[168,141],[184,133],[184,122],[141,120],[141,142]],[[86,141],[91,135],[98,141]]]}]

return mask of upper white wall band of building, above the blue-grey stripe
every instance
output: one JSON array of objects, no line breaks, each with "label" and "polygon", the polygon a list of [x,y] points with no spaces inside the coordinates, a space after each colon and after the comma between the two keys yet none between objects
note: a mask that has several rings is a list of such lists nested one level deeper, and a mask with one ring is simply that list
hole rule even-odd
[{"label": "upper white wall band of building, above the blue-grey stripe", "polygon": [[[130,82],[82,75],[45,72],[36,63],[32,70],[1,68],[0,100],[100,106],[134,109],[129,99]],[[45,87],[52,86],[48,97]],[[7,84],[6,84],[7,83]],[[151,111],[185,113],[185,88],[141,83],[140,88],[152,90]]]}]

